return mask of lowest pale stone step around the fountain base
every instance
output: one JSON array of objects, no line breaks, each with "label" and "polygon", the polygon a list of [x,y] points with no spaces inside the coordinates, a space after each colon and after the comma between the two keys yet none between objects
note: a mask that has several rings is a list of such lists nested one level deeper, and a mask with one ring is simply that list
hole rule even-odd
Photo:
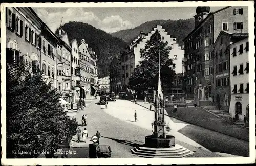
[{"label": "lowest pale stone step around the fountain base", "polygon": [[159,154],[148,154],[143,152],[136,152],[134,149],[131,149],[132,153],[145,158],[174,158],[174,157],[185,157],[193,154],[193,152],[185,149],[182,153],[159,153]]}]

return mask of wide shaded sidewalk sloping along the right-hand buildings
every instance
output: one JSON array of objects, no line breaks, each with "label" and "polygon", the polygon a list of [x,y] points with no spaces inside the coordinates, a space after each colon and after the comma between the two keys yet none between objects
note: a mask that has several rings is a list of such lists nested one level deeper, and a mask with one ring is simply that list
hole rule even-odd
[{"label": "wide shaded sidewalk sloping along the right-hand buildings", "polygon": [[[131,101],[133,102],[133,101]],[[137,102],[138,105],[150,109],[150,105],[145,102]],[[154,106],[152,108],[154,110]],[[177,112],[173,112],[173,108],[167,107],[166,111],[170,117],[177,118],[178,120],[207,128],[209,130],[217,131],[225,135],[236,137],[245,141],[249,141],[249,129],[239,125],[231,125],[220,120],[220,118],[212,115],[202,108],[194,107],[178,107]]]}]

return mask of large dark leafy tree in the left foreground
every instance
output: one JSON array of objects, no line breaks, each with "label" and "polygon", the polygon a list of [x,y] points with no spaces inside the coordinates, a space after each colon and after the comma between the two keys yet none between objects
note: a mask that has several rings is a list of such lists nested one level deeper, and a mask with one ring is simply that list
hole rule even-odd
[{"label": "large dark leafy tree in the left foreground", "polygon": [[50,152],[46,157],[51,158],[60,144],[69,143],[78,123],[63,111],[59,98],[40,72],[7,63],[7,158],[38,157],[37,151]]}]

